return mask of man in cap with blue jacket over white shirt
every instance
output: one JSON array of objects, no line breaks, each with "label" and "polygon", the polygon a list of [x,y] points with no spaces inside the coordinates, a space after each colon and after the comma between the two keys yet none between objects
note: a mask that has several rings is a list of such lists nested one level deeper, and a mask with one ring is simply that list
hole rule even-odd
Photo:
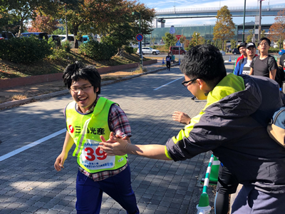
[{"label": "man in cap with blue jacket over white shirt", "polygon": [[250,64],[252,63],[252,59],[254,56],[257,56],[255,53],[257,51],[257,47],[253,42],[249,42],[247,44],[246,49],[246,58],[242,58],[239,63],[237,63],[236,68],[234,68],[235,75],[247,74],[249,75],[250,72]]}]

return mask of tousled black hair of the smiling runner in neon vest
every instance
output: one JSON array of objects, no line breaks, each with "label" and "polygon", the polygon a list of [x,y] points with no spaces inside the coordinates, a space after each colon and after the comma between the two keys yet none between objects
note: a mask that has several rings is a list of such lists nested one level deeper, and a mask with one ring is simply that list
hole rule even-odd
[{"label": "tousled black hair of the smiling runner in neon vest", "polygon": [[66,66],[63,71],[63,82],[68,89],[71,89],[71,84],[73,81],[78,81],[78,79],[88,80],[97,94],[101,92],[101,76],[98,70],[94,66],[84,66],[83,63],[76,61],[73,64]]}]

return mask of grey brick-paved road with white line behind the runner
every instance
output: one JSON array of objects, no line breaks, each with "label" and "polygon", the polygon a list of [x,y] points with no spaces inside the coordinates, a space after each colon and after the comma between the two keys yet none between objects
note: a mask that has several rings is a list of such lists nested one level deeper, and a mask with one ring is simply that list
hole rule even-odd
[{"label": "grey brick-paved road with white line behind the runner", "polygon": [[[166,69],[101,88],[119,103],[130,121],[136,144],[165,144],[183,125],[173,111],[197,115],[204,101],[192,101],[179,68]],[[76,213],[76,158],[73,148],[57,172],[53,168],[65,137],[63,108],[70,95],[0,111],[0,213]],[[157,161],[129,156],[133,190],[140,213],[197,213],[209,153],[187,161]],[[208,190],[212,194],[212,190]],[[212,203],[213,196],[210,197]],[[210,204],[212,205],[212,204]],[[213,210],[212,210],[213,211]],[[211,211],[211,213],[212,213]],[[100,213],[125,213],[103,195]]]}]

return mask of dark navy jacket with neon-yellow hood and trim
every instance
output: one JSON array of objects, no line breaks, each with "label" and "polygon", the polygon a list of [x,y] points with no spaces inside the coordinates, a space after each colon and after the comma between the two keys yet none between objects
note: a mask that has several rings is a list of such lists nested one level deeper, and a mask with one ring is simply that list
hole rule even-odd
[{"label": "dark navy jacket with neon-yellow hood and trim", "polygon": [[166,156],[182,161],[212,151],[239,183],[285,193],[285,148],[266,131],[283,106],[281,95],[270,78],[230,73],[209,92],[199,115],[167,141]]}]

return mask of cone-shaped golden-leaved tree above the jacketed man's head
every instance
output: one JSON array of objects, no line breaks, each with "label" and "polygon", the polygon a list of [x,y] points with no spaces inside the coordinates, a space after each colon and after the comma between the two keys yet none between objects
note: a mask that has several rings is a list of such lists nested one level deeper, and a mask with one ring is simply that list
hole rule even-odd
[{"label": "cone-shaped golden-leaved tree above the jacketed man's head", "polygon": [[223,6],[217,11],[217,21],[214,26],[214,40],[220,39],[222,41],[222,49],[224,49],[224,41],[229,41],[234,36],[234,22],[232,21],[232,14],[229,12],[227,6]]}]

